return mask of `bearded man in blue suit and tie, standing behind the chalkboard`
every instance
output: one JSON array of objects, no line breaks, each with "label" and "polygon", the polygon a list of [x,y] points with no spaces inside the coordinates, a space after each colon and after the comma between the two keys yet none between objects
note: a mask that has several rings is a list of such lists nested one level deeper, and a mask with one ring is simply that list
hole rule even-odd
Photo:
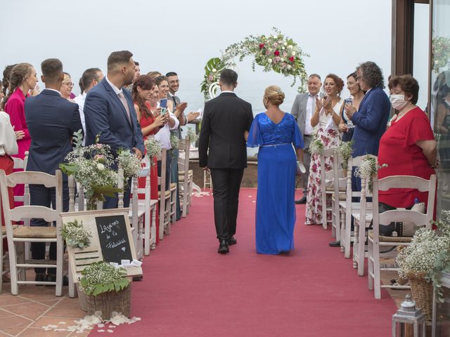
[{"label": "bearded man in blue suit and tie, standing behind the chalkboard", "polygon": [[[84,103],[86,119],[86,145],[99,143],[110,145],[113,154],[120,149],[130,150],[142,158],[143,136],[134,110],[133,100],[124,86],[133,83],[134,60],[129,51],[115,51],[108,57],[108,74],[92,88]],[[129,206],[129,186],[124,191],[124,206]],[[105,209],[117,208],[118,199],[106,198]]]}]

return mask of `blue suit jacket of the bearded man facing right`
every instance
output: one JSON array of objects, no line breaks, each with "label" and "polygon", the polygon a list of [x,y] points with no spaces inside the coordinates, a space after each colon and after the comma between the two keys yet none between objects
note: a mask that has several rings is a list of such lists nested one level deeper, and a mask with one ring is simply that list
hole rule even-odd
[{"label": "blue suit jacket of the bearded man facing right", "polygon": [[110,145],[113,152],[120,148],[131,150],[136,147],[143,153],[141,125],[131,94],[125,88],[122,88],[122,92],[127,99],[131,122],[127,110],[106,77],[87,93],[84,103],[86,145],[94,144],[96,135],[100,133],[100,143]]}]

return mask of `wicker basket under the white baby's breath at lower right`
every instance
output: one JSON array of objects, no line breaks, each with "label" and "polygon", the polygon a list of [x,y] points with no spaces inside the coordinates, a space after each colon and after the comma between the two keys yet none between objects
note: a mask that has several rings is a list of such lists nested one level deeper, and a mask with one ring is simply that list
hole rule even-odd
[{"label": "wicker basket under the white baby's breath at lower right", "polygon": [[411,293],[417,307],[423,310],[427,320],[430,321],[432,319],[433,284],[425,281],[426,275],[425,272],[409,272],[406,276],[411,284]]}]

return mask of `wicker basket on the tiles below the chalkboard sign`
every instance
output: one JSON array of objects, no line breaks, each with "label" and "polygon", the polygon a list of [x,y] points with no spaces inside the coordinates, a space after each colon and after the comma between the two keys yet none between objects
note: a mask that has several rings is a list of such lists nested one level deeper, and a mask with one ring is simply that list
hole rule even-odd
[{"label": "wicker basket on the tiles below the chalkboard sign", "polygon": [[110,319],[113,311],[122,312],[129,317],[131,307],[131,283],[122,291],[108,291],[97,296],[86,295],[87,312],[94,315],[96,311],[101,311],[102,319]]}]

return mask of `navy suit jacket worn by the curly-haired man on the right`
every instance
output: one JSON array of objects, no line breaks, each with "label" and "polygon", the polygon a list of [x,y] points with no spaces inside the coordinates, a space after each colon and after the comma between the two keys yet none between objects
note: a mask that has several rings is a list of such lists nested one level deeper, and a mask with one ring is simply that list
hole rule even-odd
[{"label": "navy suit jacket worn by the curly-haired man on the right", "polygon": [[352,116],[355,124],[353,138],[353,157],[364,154],[378,156],[380,138],[386,131],[390,114],[390,101],[382,88],[372,88],[366,95],[359,110]]}]

